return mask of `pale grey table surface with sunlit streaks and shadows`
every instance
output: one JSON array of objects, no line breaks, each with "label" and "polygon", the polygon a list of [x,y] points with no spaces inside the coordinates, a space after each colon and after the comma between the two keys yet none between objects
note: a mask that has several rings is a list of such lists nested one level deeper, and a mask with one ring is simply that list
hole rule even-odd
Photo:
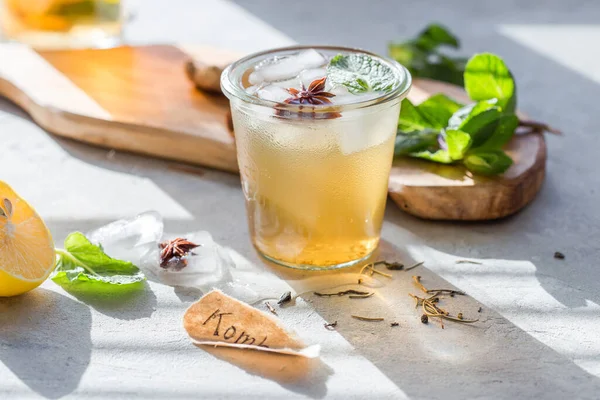
[{"label": "pale grey table surface with sunlit streaks and shadows", "polygon": [[[387,40],[442,21],[463,39],[465,54],[501,54],[517,77],[520,108],[564,135],[548,137],[548,176],[518,215],[436,223],[388,206],[384,240],[424,260],[424,279],[445,280],[466,291],[471,306],[481,305],[475,326],[421,324],[406,295],[414,291],[410,274],[396,275],[377,298],[360,304],[307,296],[280,317],[322,345],[322,368],[308,382],[287,384],[193,347],[181,329],[196,299],[190,293],[150,282],[127,301],[99,302],[46,282],[0,300],[0,398],[600,396],[600,6],[584,0],[138,3],[131,43],[242,51],[298,41],[384,53]],[[57,244],[73,230],[155,209],[168,232],[208,230],[263,265],[250,245],[237,176],[189,174],[167,162],[62,140],[4,100],[0,135],[0,179],[36,206]],[[556,250],[566,259],[554,259]],[[456,264],[459,258],[482,264]],[[359,311],[400,326],[349,318]],[[325,330],[333,320],[337,331]]]}]

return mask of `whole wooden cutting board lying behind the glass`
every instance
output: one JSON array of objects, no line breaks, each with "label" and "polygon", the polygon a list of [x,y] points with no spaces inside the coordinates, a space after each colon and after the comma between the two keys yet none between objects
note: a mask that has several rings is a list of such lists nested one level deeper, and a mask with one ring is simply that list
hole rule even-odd
[{"label": "whole wooden cutting board lying behind the glass", "polygon": [[[0,45],[0,95],[56,135],[151,156],[237,172],[228,101],[194,88],[184,73],[190,55],[224,65],[239,55],[202,46],[141,46],[36,52]],[[418,80],[409,98],[420,102],[460,88]],[[515,137],[515,164],[502,177],[474,178],[460,167],[400,159],[390,195],[405,211],[429,219],[485,220],[528,204],[544,178],[542,135]]]}]

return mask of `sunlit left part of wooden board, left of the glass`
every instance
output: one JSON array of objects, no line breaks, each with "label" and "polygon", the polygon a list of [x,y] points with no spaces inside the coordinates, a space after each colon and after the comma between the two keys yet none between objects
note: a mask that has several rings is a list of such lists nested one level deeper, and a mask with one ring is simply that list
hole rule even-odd
[{"label": "sunlit left part of wooden board, left of the glass", "polygon": [[[43,51],[39,56],[43,62],[27,68],[30,59],[3,57],[0,94],[48,131],[107,148],[238,170],[226,124],[227,99],[194,89],[184,74],[188,55],[178,48]],[[65,85],[56,90],[57,76],[70,82],[69,90]],[[87,98],[74,95],[80,92]],[[69,106],[84,100],[85,109]]]}]

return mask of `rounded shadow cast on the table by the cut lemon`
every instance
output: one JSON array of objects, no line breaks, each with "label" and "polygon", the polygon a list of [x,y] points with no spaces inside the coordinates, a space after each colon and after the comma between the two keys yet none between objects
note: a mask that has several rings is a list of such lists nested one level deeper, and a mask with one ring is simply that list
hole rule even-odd
[{"label": "rounded shadow cast on the table by the cut lemon", "polygon": [[49,290],[0,298],[0,362],[41,396],[66,396],[90,363],[91,324],[87,306]]}]

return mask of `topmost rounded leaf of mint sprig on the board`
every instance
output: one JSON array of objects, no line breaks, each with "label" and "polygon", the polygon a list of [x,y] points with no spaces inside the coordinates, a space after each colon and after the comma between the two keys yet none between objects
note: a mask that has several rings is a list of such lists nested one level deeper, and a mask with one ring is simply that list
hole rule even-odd
[{"label": "topmost rounded leaf of mint sprig on the board", "polygon": [[497,99],[497,105],[507,113],[514,113],[517,96],[512,73],[495,54],[476,54],[465,66],[465,90],[475,101]]}]

